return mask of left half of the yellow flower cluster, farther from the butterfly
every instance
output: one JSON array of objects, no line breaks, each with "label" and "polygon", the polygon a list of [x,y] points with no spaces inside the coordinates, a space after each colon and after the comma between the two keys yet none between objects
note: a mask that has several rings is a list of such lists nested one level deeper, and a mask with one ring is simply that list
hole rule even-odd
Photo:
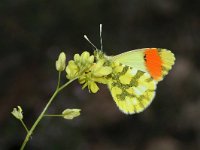
[{"label": "left half of the yellow flower cluster, farther from the butterfly", "polygon": [[94,56],[85,51],[81,55],[75,54],[74,60],[69,61],[66,72],[66,77],[70,80],[81,76],[87,72],[94,63]]}]

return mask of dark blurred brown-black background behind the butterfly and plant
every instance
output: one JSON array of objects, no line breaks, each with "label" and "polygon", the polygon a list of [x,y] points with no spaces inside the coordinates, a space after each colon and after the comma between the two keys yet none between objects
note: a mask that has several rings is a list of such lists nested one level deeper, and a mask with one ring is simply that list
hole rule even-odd
[{"label": "dark blurred brown-black background behind the butterfly and plant", "polygon": [[[12,115],[22,106],[28,127],[57,84],[55,60],[91,45],[100,48],[99,24],[108,55],[144,47],[172,50],[176,63],[158,84],[144,112],[124,115],[106,86],[97,94],[74,82],[49,108],[82,109],[72,120],[44,118],[29,150],[200,149],[200,1],[198,0],[1,0],[0,149],[19,149],[25,131]],[[62,82],[66,82],[63,74]]]}]

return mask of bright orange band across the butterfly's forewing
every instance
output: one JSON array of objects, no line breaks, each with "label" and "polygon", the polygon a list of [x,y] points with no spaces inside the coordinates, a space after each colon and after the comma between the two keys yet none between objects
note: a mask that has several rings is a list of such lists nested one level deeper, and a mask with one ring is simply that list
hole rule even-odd
[{"label": "bright orange band across the butterfly's forewing", "polygon": [[157,48],[147,48],[145,50],[146,68],[154,80],[160,80],[162,77],[162,60]]}]

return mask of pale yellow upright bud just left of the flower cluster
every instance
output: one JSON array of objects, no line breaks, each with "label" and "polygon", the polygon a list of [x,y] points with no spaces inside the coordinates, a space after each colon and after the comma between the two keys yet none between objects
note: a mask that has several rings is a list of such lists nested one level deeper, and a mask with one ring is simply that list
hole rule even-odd
[{"label": "pale yellow upright bud just left of the flower cluster", "polygon": [[56,70],[63,71],[66,67],[66,55],[64,52],[60,53],[58,60],[56,61]]}]

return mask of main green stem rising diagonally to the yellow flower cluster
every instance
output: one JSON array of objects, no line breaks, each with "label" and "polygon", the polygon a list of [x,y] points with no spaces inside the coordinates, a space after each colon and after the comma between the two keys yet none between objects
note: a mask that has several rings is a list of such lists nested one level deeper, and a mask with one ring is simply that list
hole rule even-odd
[{"label": "main green stem rising diagonally to the yellow flower cluster", "polygon": [[37,120],[35,121],[35,123],[33,124],[33,126],[31,127],[31,129],[28,131],[24,142],[22,143],[22,146],[20,148],[20,150],[23,150],[24,147],[26,146],[26,143],[29,141],[30,136],[32,135],[33,131],[35,130],[36,126],[38,125],[38,123],[40,122],[40,120],[43,118],[45,112],[47,111],[49,105],[52,103],[52,101],[54,100],[54,98],[56,97],[56,95],[62,90],[64,89],[66,86],[68,86],[71,82],[73,82],[74,80],[76,80],[77,78],[71,79],[69,80],[67,83],[65,83],[64,85],[62,85],[60,88],[57,88],[56,91],[53,93],[53,95],[51,96],[50,100],[48,101],[48,103],[46,104],[45,108],[43,109],[43,111],[40,113],[39,117],[37,118]]}]

